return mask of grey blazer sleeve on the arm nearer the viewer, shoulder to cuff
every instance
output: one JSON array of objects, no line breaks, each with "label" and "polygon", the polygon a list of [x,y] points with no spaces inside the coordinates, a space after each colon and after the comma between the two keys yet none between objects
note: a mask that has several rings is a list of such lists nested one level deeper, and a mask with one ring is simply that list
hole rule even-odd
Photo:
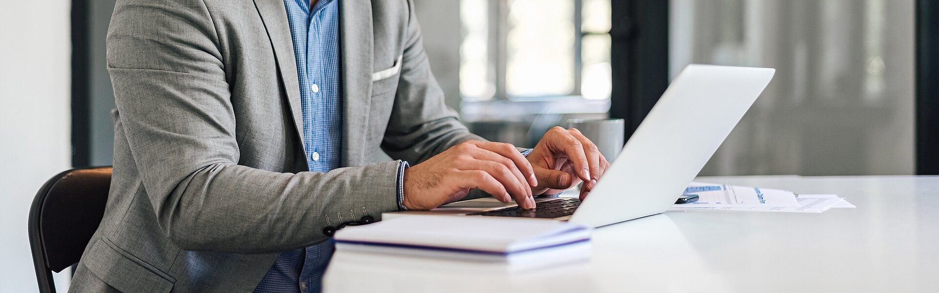
[{"label": "grey blazer sleeve on the arm nearer the viewer, shoulder to cuff", "polygon": [[220,39],[199,0],[118,1],[111,22],[120,127],[162,232],[179,248],[283,252],[327,239],[328,225],[397,209],[400,162],[297,174],[238,164]]}]

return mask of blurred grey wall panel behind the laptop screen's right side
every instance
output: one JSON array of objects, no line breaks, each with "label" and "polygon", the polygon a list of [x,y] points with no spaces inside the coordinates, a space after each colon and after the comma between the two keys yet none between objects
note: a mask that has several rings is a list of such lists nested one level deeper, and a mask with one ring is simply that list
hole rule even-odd
[{"label": "blurred grey wall panel behind the laptop screen's right side", "polygon": [[671,0],[671,72],[776,77],[701,172],[914,172],[913,0]]}]

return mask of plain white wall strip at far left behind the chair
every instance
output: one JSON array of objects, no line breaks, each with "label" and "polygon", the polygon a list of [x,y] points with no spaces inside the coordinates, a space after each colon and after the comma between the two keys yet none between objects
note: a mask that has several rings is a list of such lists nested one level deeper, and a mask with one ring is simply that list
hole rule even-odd
[{"label": "plain white wall strip at far left behind the chair", "polygon": [[[26,216],[70,166],[69,1],[0,4],[0,291],[35,292]],[[57,278],[61,280],[61,278]]]}]

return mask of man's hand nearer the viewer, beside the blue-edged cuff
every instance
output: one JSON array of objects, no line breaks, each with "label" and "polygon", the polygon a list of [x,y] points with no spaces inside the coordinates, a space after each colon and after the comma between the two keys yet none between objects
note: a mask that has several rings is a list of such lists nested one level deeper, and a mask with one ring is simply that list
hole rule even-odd
[{"label": "man's hand nearer the viewer, beside the blue-edged cuff", "polygon": [[404,206],[431,209],[452,203],[478,188],[502,202],[515,199],[534,208],[531,187],[538,185],[531,163],[515,146],[468,141],[405,169]]}]

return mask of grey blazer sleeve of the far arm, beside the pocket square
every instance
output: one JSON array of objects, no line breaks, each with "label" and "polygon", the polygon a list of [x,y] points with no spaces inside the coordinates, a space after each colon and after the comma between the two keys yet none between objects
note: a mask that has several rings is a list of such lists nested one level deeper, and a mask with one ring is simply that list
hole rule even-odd
[{"label": "grey blazer sleeve of the far arm, beside the pocket square", "polygon": [[408,27],[398,89],[381,147],[394,159],[417,164],[467,140],[485,141],[460,123],[423,51],[421,26],[408,0]]}]

